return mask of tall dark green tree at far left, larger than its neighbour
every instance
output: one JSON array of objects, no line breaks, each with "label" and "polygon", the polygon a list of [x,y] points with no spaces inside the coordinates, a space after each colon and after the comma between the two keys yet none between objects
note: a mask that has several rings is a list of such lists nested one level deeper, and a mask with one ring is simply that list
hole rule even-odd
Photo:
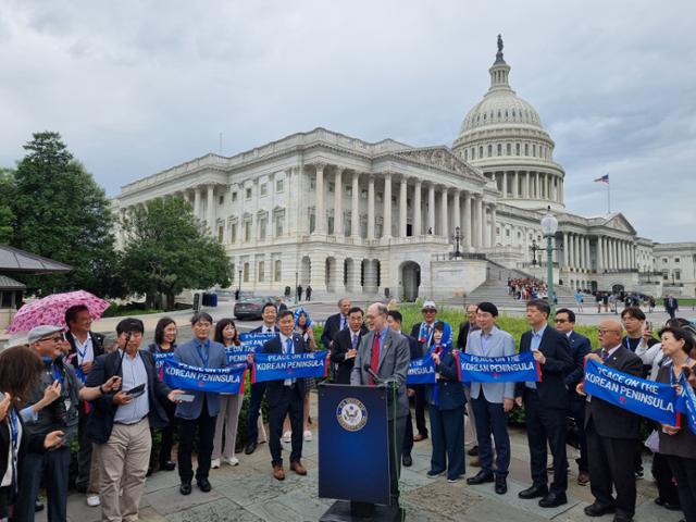
[{"label": "tall dark green tree at far left, larger than its neighbour", "polygon": [[36,133],[24,149],[10,202],[12,245],[73,266],[66,274],[25,277],[29,290],[110,294],[114,237],[103,189],[73,158],[60,134]]}]

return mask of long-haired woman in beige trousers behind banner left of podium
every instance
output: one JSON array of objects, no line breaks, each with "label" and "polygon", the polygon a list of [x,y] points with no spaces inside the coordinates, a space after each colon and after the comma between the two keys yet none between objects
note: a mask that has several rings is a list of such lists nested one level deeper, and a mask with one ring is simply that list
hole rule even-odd
[{"label": "long-haired woman in beige trousers behind banner left of podium", "polygon": [[[232,319],[221,319],[215,325],[213,340],[222,344],[225,348],[240,346],[239,332]],[[213,440],[213,452],[211,457],[211,468],[220,468],[222,460],[229,465],[237,465],[239,459],[235,457],[235,445],[237,444],[237,425],[239,411],[244,396],[240,394],[220,394],[220,413],[215,422],[215,438]],[[224,442],[223,442],[224,430]]]}]

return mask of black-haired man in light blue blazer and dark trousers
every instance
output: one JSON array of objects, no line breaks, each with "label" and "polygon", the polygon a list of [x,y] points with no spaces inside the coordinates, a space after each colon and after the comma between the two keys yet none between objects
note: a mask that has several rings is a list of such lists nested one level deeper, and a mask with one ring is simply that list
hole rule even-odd
[{"label": "black-haired man in light blue blazer and dark trousers", "polygon": [[[481,330],[472,332],[467,343],[467,353],[477,357],[507,357],[514,355],[514,339],[496,326],[498,308],[493,302],[482,302],[476,311],[476,324]],[[471,402],[478,435],[478,461],[481,471],[467,480],[468,484],[495,481],[495,492],[508,490],[507,476],[510,467],[510,436],[507,413],[514,406],[514,383],[471,383]],[[493,471],[490,435],[496,444],[496,469]]]}]

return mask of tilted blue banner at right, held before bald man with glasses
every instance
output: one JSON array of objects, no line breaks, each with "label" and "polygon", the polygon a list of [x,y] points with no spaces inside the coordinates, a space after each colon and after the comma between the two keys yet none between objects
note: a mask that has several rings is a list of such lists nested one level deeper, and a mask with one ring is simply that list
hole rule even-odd
[{"label": "tilted blue banner at right, held before bald man with glasses", "polygon": [[588,359],[584,390],[593,398],[661,424],[675,426],[678,423],[676,391],[670,384],[646,381]]}]

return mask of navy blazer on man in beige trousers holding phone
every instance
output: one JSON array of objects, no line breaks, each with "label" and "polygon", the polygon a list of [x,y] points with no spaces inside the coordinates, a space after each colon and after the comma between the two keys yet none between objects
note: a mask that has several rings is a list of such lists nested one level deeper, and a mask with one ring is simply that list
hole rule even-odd
[{"label": "navy blazer on man in beige trousers holding phone", "polygon": [[[148,350],[140,350],[140,359],[145,364],[145,371],[148,374],[148,399],[150,406],[150,412],[148,419],[150,420],[151,427],[164,427],[169,424],[169,418],[164,410],[162,402],[167,401],[167,395],[170,394],[170,387],[160,381],[158,372],[154,368],[154,358]],[[127,357],[127,356],[126,356]],[[85,386],[95,387],[104,384],[110,377],[119,375],[123,377],[123,371],[121,370],[121,352],[112,351],[111,353],[104,353],[99,356],[95,360],[95,365],[87,374],[87,381]],[[90,402],[92,410],[87,417],[87,431],[86,435],[89,440],[97,444],[104,444],[111,437],[111,430],[113,428],[113,418],[116,414],[119,405],[114,405],[114,393],[104,394],[98,399]]]}]

